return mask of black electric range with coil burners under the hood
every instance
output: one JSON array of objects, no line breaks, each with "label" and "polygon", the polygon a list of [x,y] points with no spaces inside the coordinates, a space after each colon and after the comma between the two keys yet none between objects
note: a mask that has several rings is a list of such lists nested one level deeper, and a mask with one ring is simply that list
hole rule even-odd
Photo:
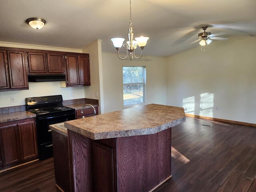
[{"label": "black electric range with coil burners under the hood", "polygon": [[62,105],[62,95],[26,98],[26,110],[36,114],[39,159],[53,156],[49,125],[76,119],[75,109]]}]

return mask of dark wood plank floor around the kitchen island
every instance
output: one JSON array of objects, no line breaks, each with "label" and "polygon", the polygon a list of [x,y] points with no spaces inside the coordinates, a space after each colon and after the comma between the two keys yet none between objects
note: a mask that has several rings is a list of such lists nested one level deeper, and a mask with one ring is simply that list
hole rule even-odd
[{"label": "dark wood plank floor around the kitchen island", "polygon": [[[154,192],[256,192],[255,177],[255,127],[187,117],[172,128],[172,178]],[[53,159],[0,173],[0,192],[14,191],[59,192]]]}]

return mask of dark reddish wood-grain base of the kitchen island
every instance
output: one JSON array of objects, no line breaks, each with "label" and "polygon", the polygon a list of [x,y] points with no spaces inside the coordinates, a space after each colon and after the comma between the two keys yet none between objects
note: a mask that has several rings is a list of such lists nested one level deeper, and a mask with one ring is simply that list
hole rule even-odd
[{"label": "dark reddish wood-grain base of the kitchen island", "polygon": [[171,128],[92,140],[68,130],[72,191],[148,192],[171,177]]}]

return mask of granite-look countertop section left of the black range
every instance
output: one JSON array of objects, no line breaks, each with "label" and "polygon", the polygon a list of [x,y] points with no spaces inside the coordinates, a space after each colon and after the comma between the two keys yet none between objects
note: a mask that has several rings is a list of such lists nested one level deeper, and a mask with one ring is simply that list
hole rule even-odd
[{"label": "granite-look countertop section left of the black range", "polygon": [[30,113],[28,111],[0,114],[0,123],[33,117],[36,117],[36,114]]}]

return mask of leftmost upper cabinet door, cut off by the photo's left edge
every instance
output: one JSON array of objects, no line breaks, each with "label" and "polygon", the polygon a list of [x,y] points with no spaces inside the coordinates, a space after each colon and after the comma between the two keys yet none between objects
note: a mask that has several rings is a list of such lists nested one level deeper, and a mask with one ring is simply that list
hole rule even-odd
[{"label": "leftmost upper cabinet door, cut off by the photo's left edge", "polygon": [[0,89],[8,88],[10,88],[10,85],[6,51],[0,51]]}]

